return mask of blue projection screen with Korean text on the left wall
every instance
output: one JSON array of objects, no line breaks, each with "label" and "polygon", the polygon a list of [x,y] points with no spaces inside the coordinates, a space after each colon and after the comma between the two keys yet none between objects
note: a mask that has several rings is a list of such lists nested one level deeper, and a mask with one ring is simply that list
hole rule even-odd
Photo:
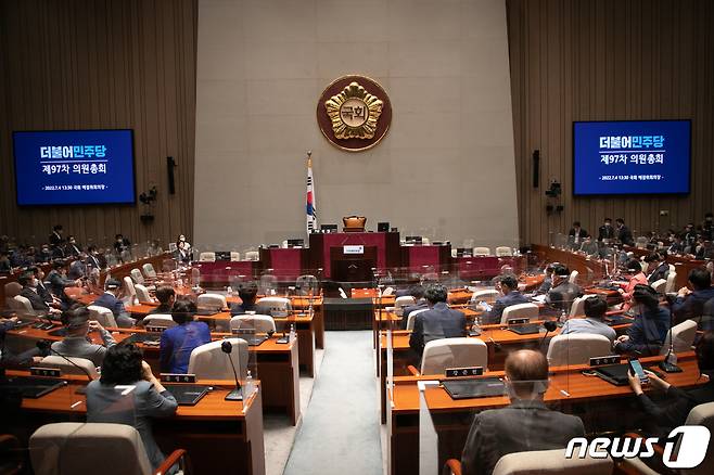
[{"label": "blue projection screen with Korean text on the left wall", "polygon": [[133,204],[131,130],[13,132],[18,205]]}]

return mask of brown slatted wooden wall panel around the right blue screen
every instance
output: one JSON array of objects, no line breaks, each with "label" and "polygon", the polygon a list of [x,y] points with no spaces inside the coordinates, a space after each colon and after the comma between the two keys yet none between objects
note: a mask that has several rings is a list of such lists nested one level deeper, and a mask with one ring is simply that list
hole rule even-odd
[{"label": "brown slatted wooden wall panel around the right blue screen", "polygon": [[[605,216],[641,233],[700,222],[714,208],[714,2],[507,0],[507,11],[523,242],[547,243],[573,220],[594,232]],[[668,118],[692,120],[689,196],[572,195],[573,121]],[[564,210],[548,216],[550,179],[563,185],[550,203]]]}]

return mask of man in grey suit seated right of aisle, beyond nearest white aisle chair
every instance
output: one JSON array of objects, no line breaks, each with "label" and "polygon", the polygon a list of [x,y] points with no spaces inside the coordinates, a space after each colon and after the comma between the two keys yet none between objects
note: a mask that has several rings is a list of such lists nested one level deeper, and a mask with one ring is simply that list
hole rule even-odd
[{"label": "man in grey suit seated right of aisle, beyond nearest white aisle chair", "polygon": [[415,330],[409,337],[409,346],[419,356],[424,346],[434,339],[467,336],[467,319],[463,312],[446,305],[448,291],[442,284],[429,284],[424,291],[429,310],[415,318]]}]

